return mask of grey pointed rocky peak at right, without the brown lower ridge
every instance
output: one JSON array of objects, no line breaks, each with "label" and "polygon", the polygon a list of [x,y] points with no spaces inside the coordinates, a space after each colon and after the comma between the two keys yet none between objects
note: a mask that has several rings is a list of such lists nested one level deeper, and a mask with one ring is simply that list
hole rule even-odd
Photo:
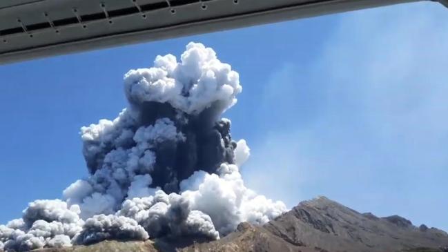
[{"label": "grey pointed rocky peak at right, without the brown lower ridge", "polygon": [[418,228],[397,215],[380,218],[358,213],[326,197],[300,203],[264,229],[291,244],[326,251],[384,252],[448,245],[444,231]]}]

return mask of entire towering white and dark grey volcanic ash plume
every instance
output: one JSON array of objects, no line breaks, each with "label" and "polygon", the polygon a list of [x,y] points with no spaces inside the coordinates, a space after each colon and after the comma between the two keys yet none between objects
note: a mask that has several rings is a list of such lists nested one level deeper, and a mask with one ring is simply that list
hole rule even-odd
[{"label": "entire towering white and dark grey volcanic ash plume", "polygon": [[128,107],[113,121],[81,128],[90,176],[64,200],[37,200],[0,226],[0,249],[91,244],[101,240],[219,239],[249,221],[286,211],[244,186],[244,140],[231,139],[222,113],[241,93],[239,76],[211,48],[189,43],[179,62],[124,76]]}]

